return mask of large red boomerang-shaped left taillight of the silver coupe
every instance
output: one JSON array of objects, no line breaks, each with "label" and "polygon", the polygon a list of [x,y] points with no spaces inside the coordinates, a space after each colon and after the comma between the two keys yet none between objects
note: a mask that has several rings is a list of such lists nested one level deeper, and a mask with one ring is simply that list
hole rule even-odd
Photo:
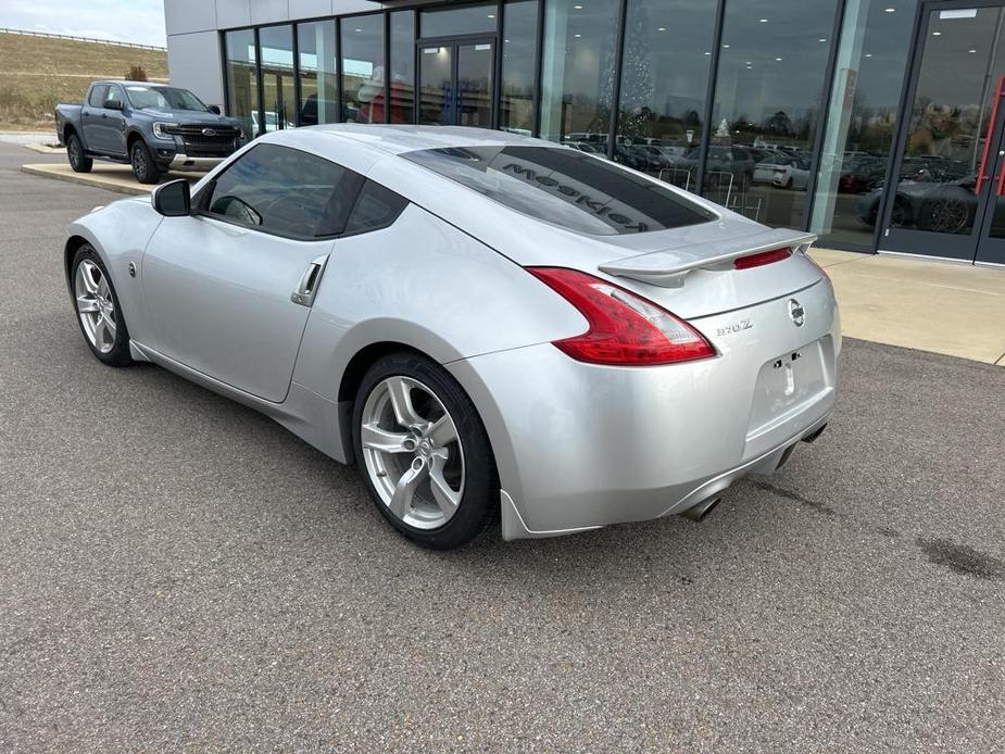
[{"label": "large red boomerang-shaped left taillight of the silver coupe", "polygon": [[582,335],[554,341],[590,364],[655,366],[716,354],[701,332],[662,306],[606,280],[563,267],[527,272],[575,306],[589,323]]}]

